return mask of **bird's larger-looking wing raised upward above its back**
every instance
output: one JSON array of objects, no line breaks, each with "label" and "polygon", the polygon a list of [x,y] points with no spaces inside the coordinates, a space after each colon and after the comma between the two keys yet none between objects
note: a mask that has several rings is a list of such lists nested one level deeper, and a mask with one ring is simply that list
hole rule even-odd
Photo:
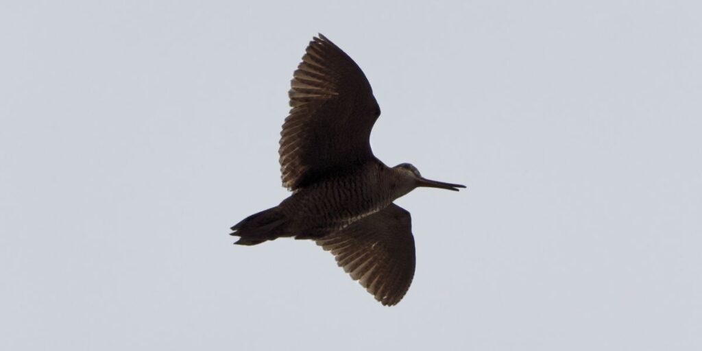
[{"label": "bird's larger-looking wing raised upward above its back", "polygon": [[322,34],[307,46],[288,94],[292,108],[279,149],[284,187],[305,187],[374,159],[369,138],[380,107],[371,85]]}]

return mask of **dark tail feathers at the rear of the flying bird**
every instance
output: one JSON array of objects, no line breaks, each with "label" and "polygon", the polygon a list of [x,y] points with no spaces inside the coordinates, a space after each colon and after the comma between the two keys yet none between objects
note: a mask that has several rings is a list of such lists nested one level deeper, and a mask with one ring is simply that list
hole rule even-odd
[{"label": "dark tail feathers at the rear of the flying bird", "polygon": [[232,227],[231,235],[239,237],[234,244],[256,245],[283,237],[288,220],[277,206],[244,218]]}]

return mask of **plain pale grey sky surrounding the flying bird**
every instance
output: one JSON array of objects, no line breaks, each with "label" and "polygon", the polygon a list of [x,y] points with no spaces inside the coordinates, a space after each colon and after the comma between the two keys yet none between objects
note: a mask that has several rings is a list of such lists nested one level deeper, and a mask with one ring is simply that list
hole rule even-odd
[{"label": "plain pale grey sky surrounding the flying bird", "polygon": [[[2,350],[701,350],[699,1],[4,1]],[[286,92],[322,32],[420,189],[383,307],[288,196]]]}]

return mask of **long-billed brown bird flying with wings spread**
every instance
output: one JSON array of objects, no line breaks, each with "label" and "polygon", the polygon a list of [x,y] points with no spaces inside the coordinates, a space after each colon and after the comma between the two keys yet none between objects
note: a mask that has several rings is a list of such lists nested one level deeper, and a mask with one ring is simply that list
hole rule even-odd
[{"label": "long-billed brown bird flying with wings spread", "polygon": [[234,244],[312,239],[380,303],[399,303],[416,261],[409,212],[392,201],[416,187],[465,186],[423,178],[411,164],[388,167],[373,156],[369,138],[380,107],[371,85],[322,34],[307,46],[288,95],[279,161],[283,185],[293,194],[234,225]]}]

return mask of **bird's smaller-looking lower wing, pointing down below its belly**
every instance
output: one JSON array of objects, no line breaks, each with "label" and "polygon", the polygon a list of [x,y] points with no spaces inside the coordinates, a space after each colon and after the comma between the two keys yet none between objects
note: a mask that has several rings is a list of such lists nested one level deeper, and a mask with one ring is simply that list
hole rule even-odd
[{"label": "bird's smaller-looking lower wing, pointing down below its belly", "polygon": [[336,262],[383,305],[395,305],[414,277],[414,237],[409,212],[395,204],[317,239]]}]

